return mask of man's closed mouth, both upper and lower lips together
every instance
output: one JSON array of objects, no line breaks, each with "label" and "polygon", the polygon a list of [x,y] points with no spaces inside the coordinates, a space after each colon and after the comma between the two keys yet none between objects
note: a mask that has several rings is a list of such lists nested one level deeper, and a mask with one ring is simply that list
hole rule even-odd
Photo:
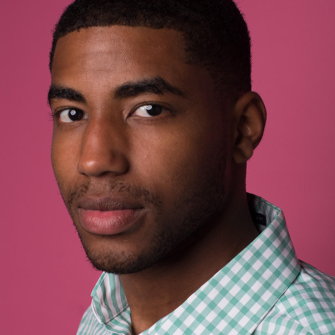
[{"label": "man's closed mouth, both upper and lower lips together", "polygon": [[143,207],[125,199],[85,197],[78,201],[80,223],[98,235],[116,235],[132,227]]}]

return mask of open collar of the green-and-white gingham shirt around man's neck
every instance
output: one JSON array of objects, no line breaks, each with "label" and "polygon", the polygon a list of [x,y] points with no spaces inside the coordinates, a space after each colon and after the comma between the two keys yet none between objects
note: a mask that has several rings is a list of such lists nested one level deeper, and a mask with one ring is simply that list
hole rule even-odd
[{"label": "open collar of the green-and-white gingham shirt around man's neck", "polygon": [[[251,334],[300,271],[280,208],[247,193],[260,235],[175,311],[142,335]],[[101,325],[132,334],[120,277],[104,272],[92,291]]]}]

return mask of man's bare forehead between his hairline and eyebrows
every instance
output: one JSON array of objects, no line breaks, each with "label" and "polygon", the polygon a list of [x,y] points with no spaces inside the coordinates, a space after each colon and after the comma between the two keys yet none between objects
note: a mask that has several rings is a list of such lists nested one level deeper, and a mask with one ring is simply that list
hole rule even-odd
[{"label": "man's bare forehead between his hairline and eyebrows", "polygon": [[182,38],[176,30],[113,25],[80,29],[59,39],[52,77],[91,72],[128,80],[186,68]]}]

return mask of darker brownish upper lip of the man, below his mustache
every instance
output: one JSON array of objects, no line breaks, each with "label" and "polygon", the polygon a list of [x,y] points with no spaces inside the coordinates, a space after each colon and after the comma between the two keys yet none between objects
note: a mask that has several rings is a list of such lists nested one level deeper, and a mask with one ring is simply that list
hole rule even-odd
[{"label": "darker brownish upper lip of the man, below his mustache", "polygon": [[115,211],[122,209],[140,209],[141,204],[130,199],[104,196],[84,196],[77,201],[77,206],[86,210]]}]

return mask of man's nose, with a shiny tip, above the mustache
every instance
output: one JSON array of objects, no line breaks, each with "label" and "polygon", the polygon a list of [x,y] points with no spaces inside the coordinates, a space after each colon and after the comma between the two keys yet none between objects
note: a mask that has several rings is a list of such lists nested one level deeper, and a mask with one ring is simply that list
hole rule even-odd
[{"label": "man's nose, with a shiny tip, above the mustache", "polygon": [[106,120],[90,120],[84,131],[78,173],[98,177],[122,175],[129,169],[122,130]]}]

